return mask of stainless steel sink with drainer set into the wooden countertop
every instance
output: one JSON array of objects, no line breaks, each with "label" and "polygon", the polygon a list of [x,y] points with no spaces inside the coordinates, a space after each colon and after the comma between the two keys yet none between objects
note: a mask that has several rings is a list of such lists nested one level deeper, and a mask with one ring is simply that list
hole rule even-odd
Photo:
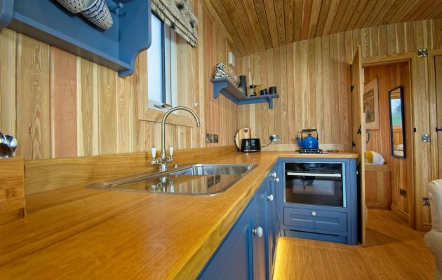
[{"label": "stainless steel sink with drainer set into the wooden countertop", "polygon": [[193,164],[165,172],[144,173],[98,183],[86,188],[175,195],[215,195],[230,188],[256,165]]}]

